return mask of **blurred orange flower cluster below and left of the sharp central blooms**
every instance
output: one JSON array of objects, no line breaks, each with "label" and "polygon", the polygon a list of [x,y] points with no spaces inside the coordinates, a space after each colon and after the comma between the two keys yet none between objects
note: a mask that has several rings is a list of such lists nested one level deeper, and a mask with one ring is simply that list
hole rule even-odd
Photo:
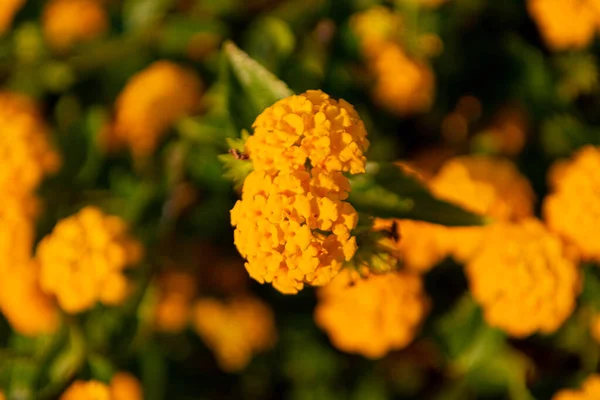
[{"label": "blurred orange flower cluster below and left of the sharp central blooms", "polygon": [[224,371],[242,370],[254,354],[271,348],[277,339],[271,309],[248,296],[229,302],[198,300],[193,323]]}]

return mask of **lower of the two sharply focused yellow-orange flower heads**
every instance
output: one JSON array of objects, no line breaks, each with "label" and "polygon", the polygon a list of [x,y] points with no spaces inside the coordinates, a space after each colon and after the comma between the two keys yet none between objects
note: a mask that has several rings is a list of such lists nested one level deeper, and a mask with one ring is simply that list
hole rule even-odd
[{"label": "lower of the two sharply focused yellow-orange flower heads", "polygon": [[341,200],[348,180],[339,172],[321,173],[254,171],[231,210],[235,244],[250,276],[283,293],[328,283],[356,251],[350,231],[358,214]]}]

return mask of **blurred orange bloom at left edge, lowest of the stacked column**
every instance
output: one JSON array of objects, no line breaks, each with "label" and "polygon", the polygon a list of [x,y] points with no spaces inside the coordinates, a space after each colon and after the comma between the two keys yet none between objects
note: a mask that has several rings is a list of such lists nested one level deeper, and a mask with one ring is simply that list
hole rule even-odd
[{"label": "blurred orange bloom at left edge, lowest of the stacked column", "polygon": [[0,311],[22,335],[37,336],[58,328],[58,307],[39,286],[39,265],[27,263],[2,267]]}]

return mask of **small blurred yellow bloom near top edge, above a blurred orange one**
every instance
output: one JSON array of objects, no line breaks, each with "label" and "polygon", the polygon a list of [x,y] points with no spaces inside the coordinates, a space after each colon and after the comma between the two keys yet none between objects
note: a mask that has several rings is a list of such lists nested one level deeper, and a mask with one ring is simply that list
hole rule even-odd
[{"label": "small blurred yellow bloom near top edge, above a blurred orange one", "polygon": [[350,28],[358,38],[365,57],[374,57],[388,42],[397,41],[402,34],[400,14],[388,7],[374,6],[354,14]]}]

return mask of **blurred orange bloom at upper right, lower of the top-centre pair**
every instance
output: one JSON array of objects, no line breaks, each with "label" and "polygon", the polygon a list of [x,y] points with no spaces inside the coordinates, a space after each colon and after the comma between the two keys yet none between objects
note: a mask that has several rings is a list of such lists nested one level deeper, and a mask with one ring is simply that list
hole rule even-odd
[{"label": "blurred orange bloom at upper right, lower of the top-centre pair", "polygon": [[388,42],[369,61],[375,77],[373,96],[377,102],[400,115],[426,112],[435,96],[435,76],[427,64],[406,55],[396,43]]}]

